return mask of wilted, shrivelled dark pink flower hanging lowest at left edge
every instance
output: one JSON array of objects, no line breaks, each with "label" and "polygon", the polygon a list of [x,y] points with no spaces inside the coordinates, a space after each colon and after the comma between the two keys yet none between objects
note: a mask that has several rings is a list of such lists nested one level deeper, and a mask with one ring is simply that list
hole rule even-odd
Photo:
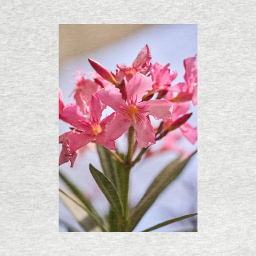
[{"label": "wilted, shrivelled dark pink flower hanging lowest at left edge", "polygon": [[69,141],[67,137],[70,133],[75,133],[75,132],[76,131],[73,130],[71,132],[65,132],[63,133],[63,135],[59,136],[59,143],[62,143],[61,154],[59,156],[59,165],[62,165],[63,163],[67,163],[68,161],[70,161],[70,167],[73,167],[74,165],[78,150],[72,153],[70,152]]}]

